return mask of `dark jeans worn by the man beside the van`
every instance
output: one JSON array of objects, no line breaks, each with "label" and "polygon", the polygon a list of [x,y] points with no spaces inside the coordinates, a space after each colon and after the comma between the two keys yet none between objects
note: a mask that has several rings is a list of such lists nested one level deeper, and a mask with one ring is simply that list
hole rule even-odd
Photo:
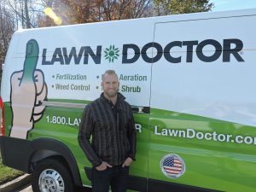
[{"label": "dark jeans worn by the man beside the van", "polygon": [[129,177],[129,166],[108,167],[104,171],[92,168],[92,192],[108,192],[109,185],[112,192],[125,192]]}]

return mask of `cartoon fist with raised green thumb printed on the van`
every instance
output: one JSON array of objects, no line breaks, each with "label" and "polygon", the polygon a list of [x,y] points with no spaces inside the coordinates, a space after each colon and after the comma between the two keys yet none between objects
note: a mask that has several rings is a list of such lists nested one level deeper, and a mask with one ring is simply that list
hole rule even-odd
[{"label": "cartoon fist with raised green thumb printed on the van", "polygon": [[42,102],[46,100],[47,85],[44,73],[36,69],[38,42],[31,39],[26,44],[26,59],[23,70],[11,76],[11,108],[13,113],[10,137],[26,138],[44,112]]}]

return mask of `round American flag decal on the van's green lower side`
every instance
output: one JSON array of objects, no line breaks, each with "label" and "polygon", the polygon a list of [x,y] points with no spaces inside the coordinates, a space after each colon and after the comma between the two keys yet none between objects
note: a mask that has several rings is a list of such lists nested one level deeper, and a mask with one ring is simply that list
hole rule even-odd
[{"label": "round American flag decal on the van's green lower side", "polygon": [[171,178],[181,177],[185,171],[183,159],[177,154],[167,154],[161,160],[161,170]]}]

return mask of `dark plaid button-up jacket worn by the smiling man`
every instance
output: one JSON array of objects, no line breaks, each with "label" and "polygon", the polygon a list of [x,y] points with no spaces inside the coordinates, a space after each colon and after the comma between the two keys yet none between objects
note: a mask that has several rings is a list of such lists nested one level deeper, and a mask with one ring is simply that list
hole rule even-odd
[{"label": "dark plaid button-up jacket worn by the smiling man", "polygon": [[125,96],[120,93],[116,110],[115,117],[103,93],[84,109],[79,128],[79,145],[93,166],[101,165],[102,161],[119,166],[127,157],[135,160],[136,128],[133,114],[131,106],[125,102]]}]

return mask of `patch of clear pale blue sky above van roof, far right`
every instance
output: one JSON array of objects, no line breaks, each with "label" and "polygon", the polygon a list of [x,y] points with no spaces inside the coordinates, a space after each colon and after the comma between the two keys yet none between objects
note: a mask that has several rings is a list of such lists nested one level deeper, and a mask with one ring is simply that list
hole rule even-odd
[{"label": "patch of clear pale blue sky above van roof, far right", "polygon": [[215,5],[212,11],[256,9],[256,0],[210,0],[210,3]]}]

